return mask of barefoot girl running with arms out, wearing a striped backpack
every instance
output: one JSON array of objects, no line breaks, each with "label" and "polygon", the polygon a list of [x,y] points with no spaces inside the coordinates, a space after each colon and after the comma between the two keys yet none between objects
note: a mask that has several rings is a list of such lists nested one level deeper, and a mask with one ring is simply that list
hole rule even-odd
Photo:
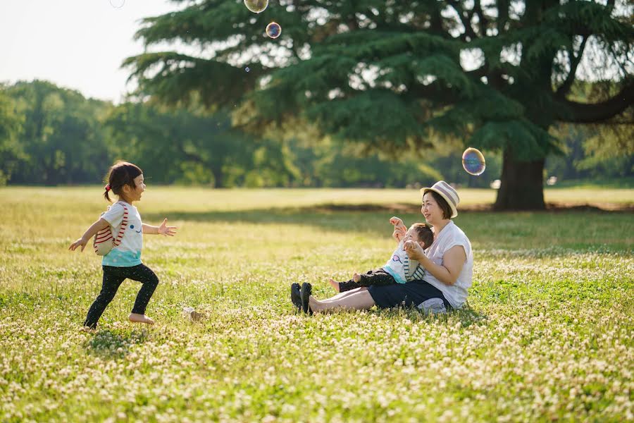
[{"label": "barefoot girl running with arms out, wearing a striped backpack", "polygon": [[97,327],[99,317],[126,278],[143,284],[137,294],[135,305],[132,307],[130,321],[154,324],[154,320],[145,315],[145,307],[147,307],[147,303],[159,284],[159,278],[156,277],[154,271],[141,262],[142,234],[155,233],[174,236],[176,227],[167,226],[167,219],[163,220],[161,226],[150,226],[141,222],[137,208],[132,205],[133,202],[141,200],[145,190],[143,173],[138,166],[127,161],[117,161],[110,168],[108,185],[105,189],[104,197],[106,200],[112,202],[108,195],[112,191],[119,197],[118,202],[113,204],[98,221],[92,223],[82,238],[70,244],[68,248],[68,250],[74,251],[77,247],[81,247],[81,251],[84,251],[88,241],[101,229],[110,225],[112,232],[118,234],[127,221],[127,227],[123,228],[123,238],[119,245],[113,247],[101,260],[101,266],[104,269],[101,292],[90,306],[84,326],[89,329]]}]

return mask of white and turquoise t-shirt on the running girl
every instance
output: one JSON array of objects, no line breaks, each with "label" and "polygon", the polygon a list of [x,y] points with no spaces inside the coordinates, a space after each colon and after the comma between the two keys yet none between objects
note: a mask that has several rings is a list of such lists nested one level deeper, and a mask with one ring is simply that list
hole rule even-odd
[{"label": "white and turquoise t-shirt on the running girl", "polygon": [[128,227],[125,228],[121,243],[101,259],[102,266],[130,267],[141,264],[141,249],[143,247],[143,232],[141,215],[136,207],[126,202],[116,202],[101,216],[112,226],[113,236],[117,236],[123,221],[123,204],[128,207]]}]

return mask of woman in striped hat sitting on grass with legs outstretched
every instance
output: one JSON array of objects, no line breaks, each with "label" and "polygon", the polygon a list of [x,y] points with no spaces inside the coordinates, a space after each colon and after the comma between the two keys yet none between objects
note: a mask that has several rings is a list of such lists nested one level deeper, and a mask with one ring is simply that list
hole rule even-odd
[{"label": "woman in striped hat sitting on grass with legs outstretched", "polygon": [[304,283],[299,293],[292,288],[293,302],[301,301],[302,309],[308,313],[405,305],[438,314],[462,307],[471,287],[473,252],[469,239],[451,220],[458,215],[458,193],[441,180],[423,188],[421,194],[421,212],[433,226],[434,241],[426,254],[421,245],[412,241],[405,243],[405,250],[410,259],[425,268],[424,280],[356,288],[321,301],[311,295],[311,284]]}]

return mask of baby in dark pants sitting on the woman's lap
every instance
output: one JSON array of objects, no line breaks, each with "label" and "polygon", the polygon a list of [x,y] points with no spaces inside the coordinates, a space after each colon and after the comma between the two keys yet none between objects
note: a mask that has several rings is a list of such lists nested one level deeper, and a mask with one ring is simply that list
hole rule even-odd
[{"label": "baby in dark pants sitting on the woman's lap", "polygon": [[330,279],[330,285],[339,293],[360,286],[371,285],[392,285],[392,283],[406,283],[409,281],[421,280],[425,275],[425,269],[418,262],[409,259],[405,252],[404,245],[411,240],[425,248],[428,248],[434,241],[434,233],[425,223],[414,223],[409,229],[398,217],[392,217],[390,223],[394,225],[392,236],[399,243],[392,252],[392,257],[387,260],[385,266],[373,269],[366,274],[355,273],[352,279],[347,282],[337,282]]}]

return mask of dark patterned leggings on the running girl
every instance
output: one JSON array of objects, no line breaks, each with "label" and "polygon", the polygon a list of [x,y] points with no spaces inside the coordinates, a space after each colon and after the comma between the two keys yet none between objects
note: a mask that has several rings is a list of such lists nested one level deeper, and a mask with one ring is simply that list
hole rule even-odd
[{"label": "dark patterned leggings on the running girl", "polygon": [[159,285],[159,278],[156,277],[154,271],[145,264],[138,264],[132,267],[101,267],[104,269],[104,281],[101,283],[101,292],[90,306],[84,326],[97,327],[99,317],[104,313],[104,310],[117,293],[119,286],[126,278],[143,284],[137,294],[135,306],[132,307],[132,313],[145,314],[145,307],[147,307],[149,299],[154,294],[156,286]]}]

